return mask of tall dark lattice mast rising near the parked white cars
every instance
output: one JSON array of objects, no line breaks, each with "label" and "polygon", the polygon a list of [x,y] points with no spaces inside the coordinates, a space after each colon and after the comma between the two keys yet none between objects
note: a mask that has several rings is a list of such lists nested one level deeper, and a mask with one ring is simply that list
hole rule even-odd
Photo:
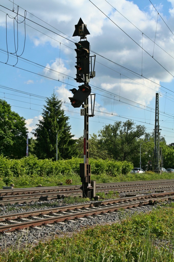
[{"label": "tall dark lattice mast rising near the parked white cars", "polygon": [[160,153],[159,153],[159,94],[156,93],[156,102],[155,102],[155,129],[154,129],[154,169],[160,168]]}]

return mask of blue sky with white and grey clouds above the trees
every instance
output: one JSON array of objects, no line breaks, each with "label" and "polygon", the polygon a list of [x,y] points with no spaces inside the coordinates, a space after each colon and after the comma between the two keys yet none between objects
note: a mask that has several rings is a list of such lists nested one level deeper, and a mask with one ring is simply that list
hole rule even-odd
[{"label": "blue sky with white and grey clouds above the trees", "polygon": [[[161,135],[167,144],[174,142],[174,0],[151,2],[1,0],[0,98],[26,119],[29,137],[42,117],[45,98],[54,91],[72,134],[83,135],[84,117],[68,99],[69,89],[79,85],[73,78],[74,42],[80,38],[72,35],[81,17],[90,32],[90,55],[97,53],[96,77],[89,83],[96,94],[89,133],[127,119],[153,132],[158,92]],[[25,23],[20,23],[25,10]],[[10,54],[15,53],[14,32],[18,60]]]}]

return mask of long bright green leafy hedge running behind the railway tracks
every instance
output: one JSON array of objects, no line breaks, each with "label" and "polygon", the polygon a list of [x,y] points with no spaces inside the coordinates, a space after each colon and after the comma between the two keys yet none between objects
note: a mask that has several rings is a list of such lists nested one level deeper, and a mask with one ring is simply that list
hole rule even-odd
[{"label": "long bright green leafy hedge running behind the railway tracks", "polygon": [[[8,178],[10,176],[20,177],[23,175],[32,176],[37,174],[39,176],[50,176],[59,174],[79,174],[79,163],[83,163],[83,159],[72,158],[68,160],[52,159],[37,159],[36,156],[30,155],[22,159],[8,159],[0,156],[0,178]],[[133,165],[130,162],[89,159],[91,165],[91,174],[100,175],[107,174],[109,176],[117,176],[118,174],[127,174]]]}]

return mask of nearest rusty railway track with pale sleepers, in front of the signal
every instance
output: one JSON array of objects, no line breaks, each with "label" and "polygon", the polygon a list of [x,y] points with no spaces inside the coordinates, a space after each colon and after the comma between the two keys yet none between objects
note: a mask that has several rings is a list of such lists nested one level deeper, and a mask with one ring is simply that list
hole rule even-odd
[{"label": "nearest rusty railway track with pale sleepers, in front of the signal", "polygon": [[61,206],[57,208],[22,212],[0,216],[0,233],[19,231],[24,228],[52,226],[62,221],[92,219],[95,216],[109,215],[120,209],[138,208],[158,201],[172,201],[174,191],[142,194],[87,204]]}]

